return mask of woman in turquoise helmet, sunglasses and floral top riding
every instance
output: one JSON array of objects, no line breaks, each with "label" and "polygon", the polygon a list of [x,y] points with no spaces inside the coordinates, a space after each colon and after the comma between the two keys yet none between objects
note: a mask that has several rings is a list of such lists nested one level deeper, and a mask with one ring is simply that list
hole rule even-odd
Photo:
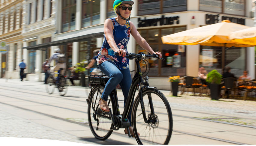
[{"label": "woman in turquoise helmet, sunglasses and floral top riding", "polygon": [[[133,4],[134,2],[131,0],[115,0],[113,7],[117,16],[106,19],[104,22],[104,40],[97,55],[98,67],[110,78],[99,100],[100,108],[104,112],[109,112],[108,96],[118,84],[120,84],[123,91],[124,104],[128,97],[132,79],[129,70],[129,59],[126,59],[124,56],[127,52],[130,34],[150,54],[157,54],[159,57],[162,57],[161,52],[154,52],[146,40],[141,37],[134,24],[129,21]],[[114,52],[118,52],[119,55],[114,55]],[[128,119],[130,121],[130,133],[134,136],[131,126],[131,112]],[[125,133],[128,133],[126,129]]]}]

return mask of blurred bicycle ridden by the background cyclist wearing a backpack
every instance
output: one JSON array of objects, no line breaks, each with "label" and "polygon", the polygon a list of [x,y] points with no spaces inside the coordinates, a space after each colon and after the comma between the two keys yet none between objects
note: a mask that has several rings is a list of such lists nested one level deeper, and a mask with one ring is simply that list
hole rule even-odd
[{"label": "blurred bicycle ridden by the background cyclist wearing a backpack", "polygon": [[[61,68],[60,70],[63,70]],[[58,76],[58,82],[57,77],[55,77],[55,74]],[[55,88],[58,88],[59,94],[61,96],[64,96],[67,93],[67,83],[66,83],[66,75],[60,75],[57,72],[50,73],[50,75],[47,78],[47,84],[45,85],[46,91],[49,94],[52,94],[54,92]]]}]

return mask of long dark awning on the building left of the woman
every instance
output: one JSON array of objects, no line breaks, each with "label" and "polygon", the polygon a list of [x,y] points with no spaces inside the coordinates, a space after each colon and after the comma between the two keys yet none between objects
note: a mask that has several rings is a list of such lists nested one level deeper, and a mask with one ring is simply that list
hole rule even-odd
[{"label": "long dark awning on the building left of the woman", "polygon": [[66,45],[67,43],[86,41],[86,40],[90,40],[91,38],[95,38],[95,37],[99,37],[99,36],[103,37],[103,35],[104,35],[104,32],[99,32],[99,33],[94,33],[94,34],[86,34],[86,35],[82,35],[79,37],[71,37],[71,38],[67,38],[64,40],[56,40],[53,42],[42,43],[42,44],[38,44],[38,45],[34,45],[34,46],[27,46],[27,47],[23,47],[22,49],[45,51],[46,48],[48,48],[50,46],[59,46],[59,45]]}]

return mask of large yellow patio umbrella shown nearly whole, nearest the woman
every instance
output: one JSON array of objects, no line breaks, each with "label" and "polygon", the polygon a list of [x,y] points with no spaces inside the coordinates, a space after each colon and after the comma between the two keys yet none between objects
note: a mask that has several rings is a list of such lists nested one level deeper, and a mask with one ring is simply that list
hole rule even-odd
[{"label": "large yellow patio umbrella shown nearly whole, nearest the woman", "polygon": [[250,28],[249,26],[232,23],[223,20],[220,23],[206,25],[198,28],[181,31],[162,37],[164,44],[173,45],[204,45],[204,46],[225,46],[225,47],[248,47],[229,40],[229,34],[234,31]]}]

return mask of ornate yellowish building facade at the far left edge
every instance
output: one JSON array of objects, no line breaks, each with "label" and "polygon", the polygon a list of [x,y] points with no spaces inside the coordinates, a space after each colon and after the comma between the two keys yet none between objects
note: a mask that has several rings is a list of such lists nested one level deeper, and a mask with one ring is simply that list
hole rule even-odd
[{"label": "ornate yellowish building facade at the far left edge", "polygon": [[[19,77],[18,64],[22,59],[22,0],[1,0],[0,3],[0,41],[8,46],[8,53],[1,53],[0,77]],[[7,60],[8,56],[8,61]],[[7,63],[8,62],[8,63]]]}]

